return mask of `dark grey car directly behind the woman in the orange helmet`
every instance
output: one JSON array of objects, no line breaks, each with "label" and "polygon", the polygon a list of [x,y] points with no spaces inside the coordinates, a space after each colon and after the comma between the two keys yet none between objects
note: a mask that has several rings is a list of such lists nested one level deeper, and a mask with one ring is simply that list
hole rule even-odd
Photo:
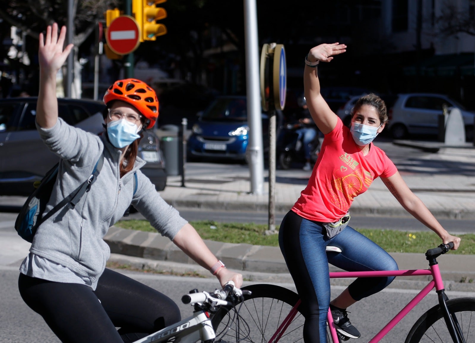
[{"label": "dark grey car directly behind the woman in the orange helmet", "polygon": [[[40,180],[58,161],[39,138],[35,126],[36,97],[0,100],[0,195],[29,195],[33,182]],[[104,103],[85,99],[58,99],[59,117],[88,132],[103,132]],[[157,191],[165,188],[167,176],[159,139],[145,131],[139,156],[141,168]]]}]

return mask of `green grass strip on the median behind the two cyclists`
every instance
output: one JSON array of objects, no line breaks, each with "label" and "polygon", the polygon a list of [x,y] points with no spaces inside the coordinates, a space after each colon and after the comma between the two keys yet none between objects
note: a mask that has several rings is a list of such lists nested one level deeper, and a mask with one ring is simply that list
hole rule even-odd
[{"label": "green grass strip on the median behind the two cyclists", "polygon": [[[265,235],[267,224],[255,223],[222,223],[214,221],[190,222],[202,239],[226,243],[244,243],[278,247],[277,235]],[[145,232],[156,232],[146,220],[126,220],[115,224],[118,227]],[[388,252],[416,252],[425,253],[428,249],[437,247],[441,241],[432,231],[409,232],[398,230],[377,230],[355,228],[366,237],[370,238],[381,248]],[[276,228],[278,230],[278,227]],[[475,254],[475,234],[459,235],[462,239],[457,250],[451,254]]]}]

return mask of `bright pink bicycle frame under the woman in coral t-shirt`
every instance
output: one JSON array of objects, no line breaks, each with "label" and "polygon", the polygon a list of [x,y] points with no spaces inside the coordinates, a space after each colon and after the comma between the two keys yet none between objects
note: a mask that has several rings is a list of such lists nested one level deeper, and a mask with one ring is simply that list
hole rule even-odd
[{"label": "bright pink bicycle frame under the woman in coral t-shirt", "polygon": [[[441,290],[444,288],[442,278],[440,276],[440,270],[437,264],[430,266],[429,269],[410,269],[410,270],[389,270],[389,271],[342,271],[331,272],[330,278],[372,278],[381,276],[420,276],[420,275],[432,275],[432,280],[429,281],[426,287],[424,287],[404,308],[386,324],[378,334],[376,334],[369,343],[376,343],[381,340],[387,333],[389,333],[396,324],[398,324],[405,315],[409,313],[425,296],[429,294],[432,288]],[[285,333],[285,329],[292,322],[297,314],[297,308],[300,305],[300,300],[295,304],[290,313],[285,317],[282,324],[278,327],[276,333],[271,337],[269,343],[277,343],[282,334]],[[332,341],[338,342],[338,336],[336,333],[335,325],[333,324],[333,317],[330,309],[327,315],[328,326],[330,327],[330,334],[332,335]]]}]

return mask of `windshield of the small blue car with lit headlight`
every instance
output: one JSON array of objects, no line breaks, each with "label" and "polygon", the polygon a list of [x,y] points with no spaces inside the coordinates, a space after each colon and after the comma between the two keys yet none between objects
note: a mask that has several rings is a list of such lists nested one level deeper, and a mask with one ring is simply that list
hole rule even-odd
[{"label": "windshield of the small blue car with lit headlight", "polygon": [[218,98],[202,114],[202,121],[247,121],[246,99]]}]

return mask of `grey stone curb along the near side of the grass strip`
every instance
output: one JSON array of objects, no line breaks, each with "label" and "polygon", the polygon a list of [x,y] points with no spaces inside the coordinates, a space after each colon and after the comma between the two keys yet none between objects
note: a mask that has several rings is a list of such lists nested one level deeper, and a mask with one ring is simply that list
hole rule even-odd
[{"label": "grey stone curb along the near side of the grass strip", "polygon": [[[206,270],[191,260],[168,238],[156,232],[142,232],[112,226],[104,236],[111,249],[109,261],[131,266],[135,269],[151,269],[159,272],[197,273],[212,277]],[[251,244],[222,243],[205,240],[215,256],[229,268],[243,274],[250,281],[293,283],[284,258],[278,247]],[[391,253],[400,269],[427,269],[421,254]],[[441,273],[447,290],[475,292],[475,272],[468,266],[475,265],[475,255],[447,255],[441,259]],[[420,264],[414,265],[417,259]],[[444,267],[446,265],[446,267]],[[461,267],[455,271],[452,266]],[[410,267],[408,267],[410,266]],[[466,268],[465,270],[463,268]],[[444,271],[451,270],[451,271]],[[339,271],[330,265],[330,271]],[[352,279],[332,279],[332,285],[347,286]],[[461,280],[465,282],[461,282]],[[472,280],[472,282],[470,282]],[[398,277],[393,288],[422,289],[427,276]]]}]

